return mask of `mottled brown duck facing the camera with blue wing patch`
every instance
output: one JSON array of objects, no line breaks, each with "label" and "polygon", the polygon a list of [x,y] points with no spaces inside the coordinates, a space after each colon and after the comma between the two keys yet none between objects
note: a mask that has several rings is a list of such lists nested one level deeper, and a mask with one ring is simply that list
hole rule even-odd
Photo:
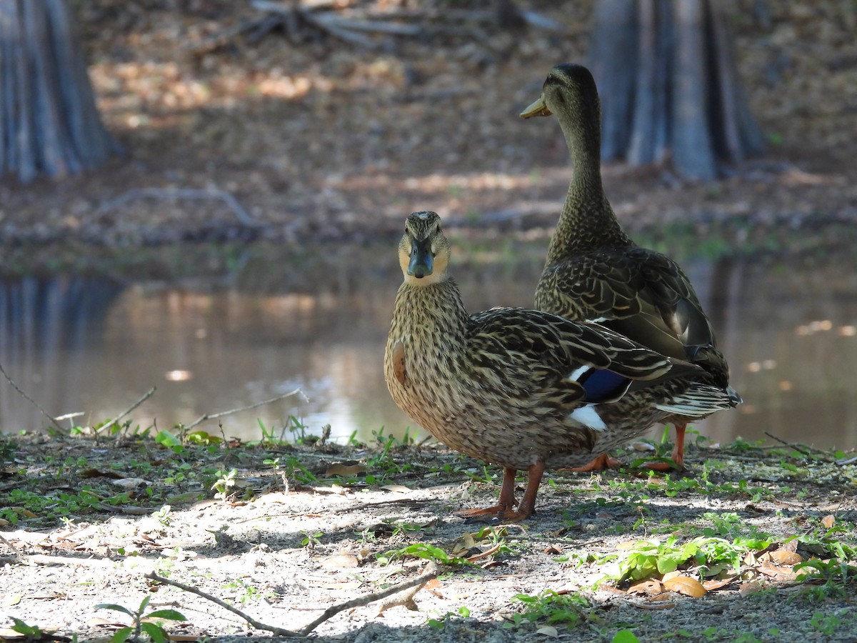
[{"label": "mottled brown duck facing the camera with blue wing patch", "polygon": [[[393,400],[440,442],[504,469],[494,507],[465,517],[523,520],[546,468],[579,466],[680,413],[728,408],[704,372],[608,328],[530,309],[470,315],[447,271],[433,212],[412,213],[399,243],[399,287],[384,355]],[[515,508],[515,472],[527,472]]]}]

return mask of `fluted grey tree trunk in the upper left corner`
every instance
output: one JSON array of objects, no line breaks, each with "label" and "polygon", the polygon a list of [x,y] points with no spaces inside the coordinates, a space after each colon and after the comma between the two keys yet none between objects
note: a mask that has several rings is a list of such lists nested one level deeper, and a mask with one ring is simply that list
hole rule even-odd
[{"label": "fluted grey tree trunk in the upper left corner", "polygon": [[0,174],[77,174],[118,151],[66,0],[0,0]]}]

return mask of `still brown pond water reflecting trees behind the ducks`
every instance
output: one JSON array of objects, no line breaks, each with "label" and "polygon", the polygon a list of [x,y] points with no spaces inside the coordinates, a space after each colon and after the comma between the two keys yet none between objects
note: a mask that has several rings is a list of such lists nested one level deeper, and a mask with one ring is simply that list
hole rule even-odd
[{"label": "still brown pond water reflecting trees behind the ducks", "polygon": [[[459,249],[453,273],[471,310],[530,305],[544,241]],[[112,418],[149,388],[134,425],[170,429],[299,388],[201,429],[256,439],[259,423],[289,436],[364,441],[416,427],[390,400],[382,372],[393,297],[394,245],[327,246],[324,261],[244,261],[228,279],[177,283],[64,275],[0,280],[0,364],[54,416]],[[305,255],[303,255],[305,258]],[[279,257],[280,259],[277,259]],[[718,330],[745,403],[695,428],[715,442],[764,432],[818,448],[857,448],[857,270],[842,256],[683,261]],[[305,396],[305,397],[304,397]],[[68,424],[69,421],[65,420]],[[0,430],[47,426],[0,381]],[[653,430],[653,434],[658,430]],[[770,440],[769,440],[770,442]]]}]

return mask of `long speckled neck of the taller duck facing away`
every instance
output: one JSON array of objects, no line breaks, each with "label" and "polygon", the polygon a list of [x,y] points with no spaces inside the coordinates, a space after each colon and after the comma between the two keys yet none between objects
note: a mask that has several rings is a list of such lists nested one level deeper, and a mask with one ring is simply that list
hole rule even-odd
[{"label": "long speckled neck of the taller duck facing away", "polygon": [[587,250],[633,245],[604,194],[600,118],[563,117],[562,112],[557,117],[572,157],[572,180],[548,248],[548,264]]}]

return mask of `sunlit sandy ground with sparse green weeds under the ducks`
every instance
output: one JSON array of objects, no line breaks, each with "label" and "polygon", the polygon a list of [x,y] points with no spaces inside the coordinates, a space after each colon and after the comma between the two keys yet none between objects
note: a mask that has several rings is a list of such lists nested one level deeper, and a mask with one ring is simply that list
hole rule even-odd
[{"label": "sunlit sandy ground with sparse green weeds under the ducks", "polygon": [[[270,634],[146,574],[208,592],[268,626],[299,630],[332,605],[430,568],[437,579],[416,594],[340,611],[312,636],[596,641],[632,630],[639,640],[853,640],[854,581],[833,591],[799,582],[794,569],[829,558],[833,542],[857,546],[853,463],[791,448],[691,448],[690,471],[672,478],[551,473],[536,517],[486,526],[454,511],[494,502],[499,472],[443,449],[387,447],[232,444],[174,454],[139,439],[3,443],[14,464],[4,467],[0,515],[17,524],[0,533],[0,605],[28,625],[97,640],[128,622],[98,604],[135,608],[149,597],[149,610],[187,617],[169,626],[173,634],[259,638]],[[217,497],[212,481],[233,467],[235,484]],[[24,492],[49,502],[37,508]],[[66,512],[68,520],[57,517]],[[704,581],[699,598],[652,579],[593,588],[616,574],[639,539],[685,543],[705,535],[772,544],[747,548],[735,568],[693,559],[680,565],[685,582]],[[440,550],[441,564],[419,557],[429,547]],[[575,601],[565,620],[516,621],[527,607],[516,597],[543,592]]]}]

